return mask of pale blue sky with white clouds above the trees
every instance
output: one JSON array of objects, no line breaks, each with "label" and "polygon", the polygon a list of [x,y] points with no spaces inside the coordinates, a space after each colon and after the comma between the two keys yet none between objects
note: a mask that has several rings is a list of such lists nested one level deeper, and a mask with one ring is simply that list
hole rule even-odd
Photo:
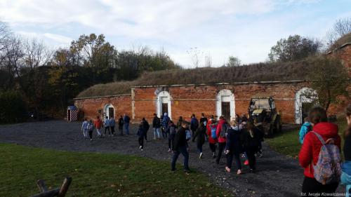
[{"label": "pale blue sky with white clouds above the trees", "polygon": [[165,50],[183,67],[211,57],[218,67],[232,55],[264,62],[279,39],[300,34],[326,39],[351,0],[0,0],[0,21],[50,48],[68,47],[81,34],[104,34],[117,50]]}]

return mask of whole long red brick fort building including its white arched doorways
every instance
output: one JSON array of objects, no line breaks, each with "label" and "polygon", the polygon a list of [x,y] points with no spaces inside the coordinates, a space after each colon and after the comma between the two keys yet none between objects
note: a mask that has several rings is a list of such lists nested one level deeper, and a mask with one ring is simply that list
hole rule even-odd
[{"label": "whole long red brick fort building including its white arched doorways", "polygon": [[[350,73],[351,43],[329,55],[340,57]],[[74,104],[87,118],[128,114],[132,121],[139,121],[143,117],[151,120],[154,113],[160,116],[164,112],[174,120],[201,113],[217,116],[227,113],[232,118],[235,114],[247,114],[251,97],[270,96],[283,123],[302,123],[305,103],[311,102],[304,95],[310,90],[304,80],[131,86],[130,90],[130,94],[123,95],[79,97]],[[329,114],[336,115],[338,111],[340,107],[331,106]]]}]

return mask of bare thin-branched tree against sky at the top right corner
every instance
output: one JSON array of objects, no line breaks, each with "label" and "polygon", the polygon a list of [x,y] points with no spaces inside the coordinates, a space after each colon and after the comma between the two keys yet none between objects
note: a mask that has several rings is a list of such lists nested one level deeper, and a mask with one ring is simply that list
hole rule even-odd
[{"label": "bare thin-branched tree against sky at the top right corner", "polygon": [[[338,39],[348,36],[351,40],[351,18],[342,18],[337,20],[333,27],[326,34],[329,46],[340,46],[343,43],[336,43]],[[343,42],[343,41],[342,41]]]}]

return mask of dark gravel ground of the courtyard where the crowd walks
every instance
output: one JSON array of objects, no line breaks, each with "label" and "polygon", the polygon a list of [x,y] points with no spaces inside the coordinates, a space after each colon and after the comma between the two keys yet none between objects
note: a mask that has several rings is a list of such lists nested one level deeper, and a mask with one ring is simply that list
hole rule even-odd
[{"label": "dark gravel ground of the courtyard where the crowd walks", "polygon": [[[81,123],[65,121],[46,121],[0,125],[0,142],[15,143],[32,147],[44,147],[65,151],[112,152],[133,154],[171,161],[168,153],[168,140],[153,140],[152,130],[148,132],[148,142],[144,151],[138,149],[135,125],[131,126],[131,135],[97,138],[93,141],[84,139]],[[204,144],[204,158],[198,158],[196,144],[190,142],[190,168],[204,172],[213,182],[232,191],[233,196],[300,196],[303,182],[303,169],[298,161],[270,150],[263,144],[263,158],[257,159],[257,171],[249,173],[247,167],[242,175],[225,172],[225,157],[217,165],[211,157],[208,144]],[[183,156],[178,159],[183,162]],[[233,164],[234,166],[234,164]],[[170,166],[171,168],[171,166]],[[182,170],[182,169],[178,169]],[[339,191],[343,191],[341,186]]]}]

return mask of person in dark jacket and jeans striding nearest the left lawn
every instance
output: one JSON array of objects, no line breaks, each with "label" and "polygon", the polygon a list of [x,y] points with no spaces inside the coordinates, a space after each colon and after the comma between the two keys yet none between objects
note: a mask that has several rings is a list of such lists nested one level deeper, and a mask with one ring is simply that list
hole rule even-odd
[{"label": "person in dark jacket and jeans striding nearest the left lawn", "polygon": [[184,156],[184,171],[185,173],[189,173],[189,146],[187,144],[187,137],[185,130],[188,127],[188,123],[183,121],[182,126],[177,130],[176,136],[174,137],[173,143],[173,157],[171,162],[171,171],[176,171],[176,162],[178,156],[182,154]]}]

